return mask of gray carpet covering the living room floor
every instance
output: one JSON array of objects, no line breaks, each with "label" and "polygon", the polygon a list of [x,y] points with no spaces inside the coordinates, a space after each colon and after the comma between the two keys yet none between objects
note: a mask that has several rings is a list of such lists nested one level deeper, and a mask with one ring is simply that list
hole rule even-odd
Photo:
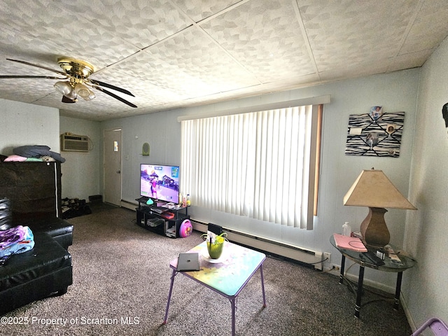
[{"label": "gray carpet covering the living room floor", "polygon": [[[168,323],[162,325],[169,261],[200,244],[199,232],[170,239],[136,225],[134,211],[103,210],[69,220],[74,232],[68,292],[7,314],[16,324],[3,323],[3,335],[230,335],[230,302],[181,274],[174,281]],[[391,300],[366,304],[355,318],[355,297],[337,276],[271,256],[263,271],[267,307],[262,308],[257,272],[237,300],[237,335],[412,333]],[[363,302],[379,298],[366,290]]]}]

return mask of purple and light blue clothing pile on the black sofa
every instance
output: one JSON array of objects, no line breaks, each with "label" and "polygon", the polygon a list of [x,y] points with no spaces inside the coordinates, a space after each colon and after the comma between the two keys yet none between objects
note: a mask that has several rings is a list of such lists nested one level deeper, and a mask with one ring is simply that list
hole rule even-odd
[{"label": "purple and light blue clothing pile on the black sofa", "polygon": [[14,254],[24,253],[34,247],[34,235],[27,226],[18,225],[0,231],[0,265]]}]

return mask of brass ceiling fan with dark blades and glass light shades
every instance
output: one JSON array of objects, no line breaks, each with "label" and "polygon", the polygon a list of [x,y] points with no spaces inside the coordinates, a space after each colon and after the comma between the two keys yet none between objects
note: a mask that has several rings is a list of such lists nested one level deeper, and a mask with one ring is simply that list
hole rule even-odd
[{"label": "brass ceiling fan with dark blades and glass light shades", "polygon": [[[92,73],[94,73],[94,68],[92,64],[89,64],[85,61],[81,61],[80,59],[74,59],[70,57],[61,57],[57,59],[57,64],[64,71],[59,71],[55,69],[50,69],[46,66],[41,66],[38,64],[33,64],[25,61],[20,61],[18,59],[10,59],[7,58],[8,61],[18,62],[21,64],[27,64],[30,66],[36,66],[41,69],[45,69],[48,71],[52,71],[58,73],[64,78],[59,78],[56,76],[0,76],[3,78],[46,78],[46,79],[59,79],[58,82],[53,85],[55,89],[62,93],[62,102],[63,103],[75,103],[78,101],[78,97],[81,97],[87,101],[94,99],[95,94],[91,88],[104,92],[105,94],[109,94],[109,96],[118,99],[120,102],[123,102],[131,107],[137,107],[137,105],[128,102],[117,94],[110,92],[109,90],[104,89],[107,87],[109,89],[116,90],[118,92],[122,92],[125,94],[129,94],[132,97],[135,97],[134,94],[129,92],[128,90],[122,89],[121,87],[117,87],[115,85],[107,84],[104,82],[100,82],[99,80],[89,78]],[[68,80],[67,80],[68,79]],[[64,81],[61,81],[64,80]]]}]

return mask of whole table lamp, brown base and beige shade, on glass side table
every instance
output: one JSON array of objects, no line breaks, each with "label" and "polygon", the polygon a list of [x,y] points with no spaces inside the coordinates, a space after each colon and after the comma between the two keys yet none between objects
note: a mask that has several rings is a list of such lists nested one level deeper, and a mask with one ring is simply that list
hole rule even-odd
[{"label": "whole table lamp, brown base and beige shade, on glass side table", "polygon": [[344,196],[344,205],[369,207],[369,214],[361,223],[364,244],[384,246],[391,235],[384,221],[384,208],[416,210],[381,170],[363,170]]}]

